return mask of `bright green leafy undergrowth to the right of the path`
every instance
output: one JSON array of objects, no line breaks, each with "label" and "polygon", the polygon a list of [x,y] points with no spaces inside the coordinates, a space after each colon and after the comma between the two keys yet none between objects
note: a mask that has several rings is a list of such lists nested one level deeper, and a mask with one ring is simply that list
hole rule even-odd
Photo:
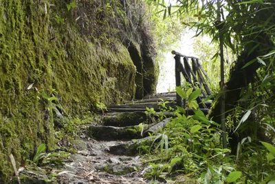
[{"label": "bright green leafy undergrowth to the right of the path", "polygon": [[170,123],[161,132],[157,132],[157,135],[153,134],[156,139],[150,148],[155,149],[154,152],[147,152],[151,162],[145,178],[151,179],[151,183],[274,181],[273,145],[265,142],[261,142],[261,145],[255,144],[255,140],[247,137],[240,143],[239,154],[230,154],[230,149],[223,149],[220,125],[209,120],[197,108],[195,99],[200,94],[199,90],[186,94],[177,88],[177,93],[187,99],[186,108],[192,108],[195,114],[188,116],[183,108],[177,107],[176,116],[170,118]]}]

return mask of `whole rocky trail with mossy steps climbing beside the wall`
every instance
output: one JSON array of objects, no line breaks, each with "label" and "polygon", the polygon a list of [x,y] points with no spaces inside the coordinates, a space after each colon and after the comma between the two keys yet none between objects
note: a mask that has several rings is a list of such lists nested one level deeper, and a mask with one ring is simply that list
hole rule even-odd
[{"label": "whole rocky trail with mossy steps climbing beside the wall", "polygon": [[[142,101],[129,101],[123,105],[111,105],[102,116],[102,122],[86,125],[77,141],[76,153],[63,161],[63,167],[52,170],[58,183],[148,183],[143,176],[148,170],[139,156],[142,141],[153,141],[148,132],[156,132],[169,122],[171,112],[165,112],[161,122],[140,127],[148,122],[146,107],[159,114],[157,103],[163,99],[166,107],[175,107],[175,92],[146,96]],[[191,113],[191,111],[190,111]],[[30,183],[50,181],[43,172],[25,170],[32,176]],[[34,181],[33,181],[34,180]],[[23,182],[22,182],[23,183]]]}]

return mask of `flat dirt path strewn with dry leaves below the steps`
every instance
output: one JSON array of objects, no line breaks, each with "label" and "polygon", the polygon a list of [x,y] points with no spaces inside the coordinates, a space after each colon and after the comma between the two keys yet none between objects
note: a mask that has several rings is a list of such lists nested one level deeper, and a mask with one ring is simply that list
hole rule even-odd
[{"label": "flat dirt path strewn with dry leaves below the steps", "polygon": [[89,138],[79,142],[77,154],[65,161],[58,172],[58,183],[148,183],[142,176],[140,156],[117,156],[109,148],[122,141],[96,141]]}]

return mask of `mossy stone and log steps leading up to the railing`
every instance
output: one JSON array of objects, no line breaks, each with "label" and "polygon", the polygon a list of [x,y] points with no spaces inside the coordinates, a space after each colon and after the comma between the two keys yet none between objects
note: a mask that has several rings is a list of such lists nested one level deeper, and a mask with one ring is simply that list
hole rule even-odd
[{"label": "mossy stone and log steps leading up to the railing", "polygon": [[[102,116],[102,124],[89,126],[87,135],[98,141],[122,141],[118,145],[109,147],[109,153],[135,156],[137,155],[135,149],[139,146],[139,139],[140,141],[148,139],[146,138],[148,132],[156,132],[168,123],[169,117],[174,115],[173,112],[159,112],[158,103],[162,100],[166,102],[167,108],[175,108],[176,93],[151,94],[139,101],[126,101],[121,105],[109,105],[108,111],[104,112],[104,116]],[[209,107],[210,104],[206,103],[206,106]],[[148,124],[146,108],[154,108],[156,112],[153,114],[154,123]],[[201,111],[207,114],[208,108],[203,108]],[[159,114],[165,117],[161,122],[157,122]],[[186,114],[192,115],[193,112],[187,109]],[[141,130],[140,123],[147,124],[146,130]],[[137,141],[132,141],[133,139]]]}]

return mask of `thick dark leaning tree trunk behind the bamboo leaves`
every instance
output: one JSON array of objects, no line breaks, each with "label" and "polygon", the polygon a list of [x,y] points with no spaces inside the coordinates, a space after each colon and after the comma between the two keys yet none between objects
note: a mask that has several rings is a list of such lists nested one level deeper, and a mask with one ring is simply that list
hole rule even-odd
[{"label": "thick dark leaning tree trunk behind the bamboo leaves", "polygon": [[[241,99],[241,90],[243,88],[247,88],[248,84],[251,83],[256,76],[256,70],[261,66],[257,61],[252,63],[246,68],[243,66],[256,59],[256,57],[267,54],[274,48],[274,43],[272,43],[270,37],[264,34],[259,34],[256,38],[247,37],[246,40],[254,40],[250,41],[247,45],[245,45],[243,52],[241,52],[240,56],[236,60],[236,65],[230,71],[230,79],[227,83],[225,83],[225,87],[223,91],[225,91],[225,116],[228,116],[230,110],[235,108],[236,103],[239,99]],[[254,48],[259,43],[259,46],[249,54],[250,50]],[[243,69],[242,69],[243,68]],[[217,103],[213,105],[208,117],[215,122],[221,122],[221,98],[217,100]],[[235,122],[239,123],[239,122]],[[230,147],[232,149],[232,154],[236,154],[236,146],[241,141],[241,137],[234,133],[230,133]],[[246,135],[248,136],[248,135]]]}]

